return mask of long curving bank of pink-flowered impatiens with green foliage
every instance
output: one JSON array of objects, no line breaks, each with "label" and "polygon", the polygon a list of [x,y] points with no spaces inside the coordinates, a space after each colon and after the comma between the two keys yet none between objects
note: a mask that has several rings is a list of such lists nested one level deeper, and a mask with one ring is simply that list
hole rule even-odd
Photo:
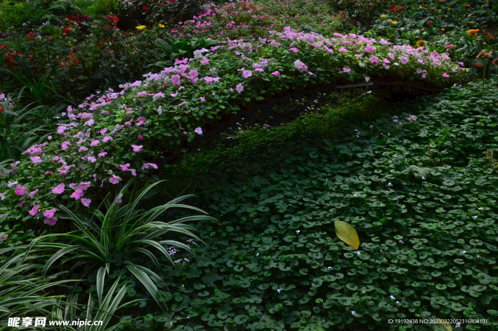
[{"label": "long curving bank of pink-flowered impatiens with green foliage", "polygon": [[[104,184],[146,176],[157,168],[153,159],[160,153],[192,141],[215,118],[235,113],[262,95],[308,82],[385,76],[451,84],[463,69],[423,47],[391,46],[355,34],[325,39],[287,27],[275,37],[278,42],[228,40],[211,51],[197,50],[192,59],[177,59],[174,67],[143,75],[144,81],[120,85],[119,93],[97,92],[76,109],[68,107],[54,137],[32,146],[24,152],[26,158],[4,169],[3,228],[11,231],[5,220],[53,225],[58,203],[73,211],[97,207],[92,200]],[[8,103],[6,98],[5,109]]]}]

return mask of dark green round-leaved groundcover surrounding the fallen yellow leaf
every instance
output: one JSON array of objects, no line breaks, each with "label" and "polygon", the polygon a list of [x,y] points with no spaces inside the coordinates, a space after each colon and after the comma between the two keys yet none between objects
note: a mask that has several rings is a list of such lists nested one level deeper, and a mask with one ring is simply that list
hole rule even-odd
[{"label": "dark green round-leaved groundcover surrounding the fallen yellow leaf", "polygon": [[453,87],[207,194],[221,223],[198,223],[208,246],[163,268],[170,311],[126,330],[496,329],[497,97],[496,82]]}]

